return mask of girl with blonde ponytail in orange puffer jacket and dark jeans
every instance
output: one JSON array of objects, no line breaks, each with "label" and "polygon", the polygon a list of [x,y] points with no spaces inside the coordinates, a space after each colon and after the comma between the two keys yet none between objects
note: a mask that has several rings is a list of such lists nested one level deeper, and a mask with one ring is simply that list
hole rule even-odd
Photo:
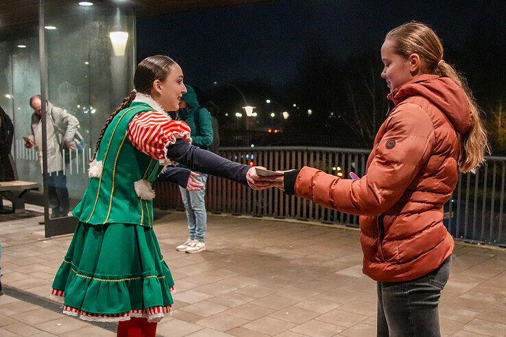
[{"label": "girl with blonde ponytail in orange puffer jacket and dark jeans", "polygon": [[377,282],[378,336],[439,336],[437,306],[450,272],[453,238],[443,206],[459,170],[474,172],[488,149],[479,108],[422,23],[392,29],[381,77],[395,108],[381,125],[361,179],[311,167],[273,184],[289,195],[359,214],[363,273]]}]

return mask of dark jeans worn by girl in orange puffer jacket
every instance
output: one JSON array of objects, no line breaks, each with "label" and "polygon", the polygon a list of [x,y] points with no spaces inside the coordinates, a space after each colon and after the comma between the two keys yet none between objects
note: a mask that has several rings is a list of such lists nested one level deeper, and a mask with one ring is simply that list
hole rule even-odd
[{"label": "dark jeans worn by girl in orange puffer jacket", "polygon": [[378,336],[441,336],[439,298],[451,256],[435,271],[407,282],[378,282]]}]

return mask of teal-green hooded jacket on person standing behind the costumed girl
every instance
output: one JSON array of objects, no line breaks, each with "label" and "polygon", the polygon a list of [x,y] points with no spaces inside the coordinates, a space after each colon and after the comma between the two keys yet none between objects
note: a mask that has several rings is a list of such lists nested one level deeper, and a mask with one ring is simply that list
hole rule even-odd
[{"label": "teal-green hooded jacket on person standing behind the costumed girl", "polygon": [[[213,120],[210,112],[200,106],[195,90],[191,86],[186,86],[186,90],[188,92],[182,95],[181,99],[188,104],[188,109],[180,109],[178,117],[190,127],[193,145],[201,149],[208,149],[213,144]],[[195,114],[199,114],[199,125],[195,125]]]}]

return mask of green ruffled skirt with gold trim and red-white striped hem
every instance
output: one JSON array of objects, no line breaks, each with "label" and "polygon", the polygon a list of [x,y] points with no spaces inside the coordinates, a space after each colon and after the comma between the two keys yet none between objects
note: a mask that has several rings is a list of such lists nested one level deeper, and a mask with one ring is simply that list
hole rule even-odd
[{"label": "green ruffled skirt with gold trim and red-white striped hem", "polygon": [[78,223],[53,282],[64,313],[89,321],[160,321],[174,282],[151,227]]}]

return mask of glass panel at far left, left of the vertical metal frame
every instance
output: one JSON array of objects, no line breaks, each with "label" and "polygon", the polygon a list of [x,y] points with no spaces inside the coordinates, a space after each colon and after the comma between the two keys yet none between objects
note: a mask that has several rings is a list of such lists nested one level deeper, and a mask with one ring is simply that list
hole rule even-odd
[{"label": "glass panel at far left, left of the vertical metal frame", "polygon": [[[25,23],[0,29],[0,106],[14,124],[10,155],[1,158],[0,180],[22,180],[40,184],[42,171],[36,149],[25,149],[23,136],[30,134],[33,110],[29,108],[32,92],[40,90],[38,34],[36,25]],[[21,184],[15,183],[16,186]],[[18,186],[19,187],[19,186]],[[24,201],[31,194],[7,191],[2,197],[14,203],[13,211],[23,212]],[[3,208],[3,200],[0,199]],[[10,212],[10,208],[3,210]]]}]

